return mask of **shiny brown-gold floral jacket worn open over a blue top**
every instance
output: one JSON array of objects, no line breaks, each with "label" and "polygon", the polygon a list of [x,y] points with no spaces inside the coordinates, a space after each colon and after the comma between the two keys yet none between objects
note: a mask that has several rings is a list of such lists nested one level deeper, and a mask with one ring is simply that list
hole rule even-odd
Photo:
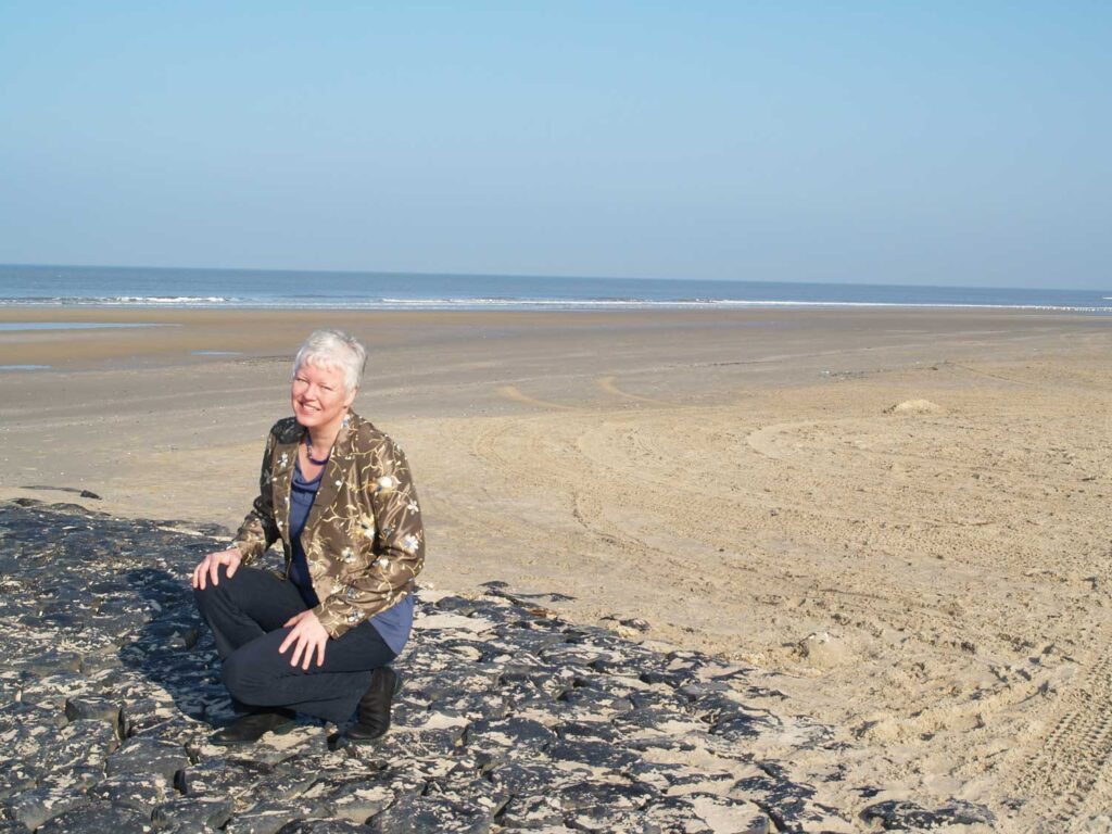
[{"label": "shiny brown-gold floral jacket worn open over a blue top", "polygon": [[[250,565],[280,538],[287,578],[292,559],[289,496],[304,436],[294,417],[270,429],[259,497],[232,542],[242,564]],[[425,533],[405,455],[354,413],[332,445],[301,546],[320,600],[314,612],[332,637],[404,599],[425,564]]]}]

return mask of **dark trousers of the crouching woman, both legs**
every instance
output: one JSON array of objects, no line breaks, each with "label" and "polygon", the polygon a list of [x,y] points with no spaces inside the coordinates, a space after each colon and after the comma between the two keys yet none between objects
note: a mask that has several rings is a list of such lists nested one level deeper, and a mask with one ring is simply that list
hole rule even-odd
[{"label": "dark trousers of the crouching woman, both legs", "polygon": [[375,626],[364,620],[329,639],[325,663],[312,657],[308,671],[290,666],[291,645],[278,647],[290,633],[282,624],[306,609],[294,583],[267,570],[240,567],[230,579],[220,566],[220,583],[193,588],[216,651],[224,662],[224,684],[232,698],[251,707],[284,706],[340,725],[347,722],[370,686],[371,673],[394,659]]}]

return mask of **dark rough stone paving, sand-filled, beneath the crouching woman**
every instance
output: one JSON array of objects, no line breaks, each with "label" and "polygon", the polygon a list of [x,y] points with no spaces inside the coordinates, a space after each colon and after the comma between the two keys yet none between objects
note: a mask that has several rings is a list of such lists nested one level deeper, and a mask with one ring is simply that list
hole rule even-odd
[{"label": "dark rough stone paving, sand-filled, beneath the crouching woman", "polygon": [[[189,574],[216,527],[0,504],[0,831],[850,832],[991,820],[952,803],[837,808],[791,761],[827,727],[696,652],[574,626],[504,586],[429,594],[397,668],[394,727],[227,749],[232,717]],[[544,596],[544,595],[540,595]],[[627,629],[634,633],[635,629]],[[785,741],[788,739],[788,741]],[[755,751],[776,749],[776,758]],[[836,774],[831,774],[836,778]]]}]

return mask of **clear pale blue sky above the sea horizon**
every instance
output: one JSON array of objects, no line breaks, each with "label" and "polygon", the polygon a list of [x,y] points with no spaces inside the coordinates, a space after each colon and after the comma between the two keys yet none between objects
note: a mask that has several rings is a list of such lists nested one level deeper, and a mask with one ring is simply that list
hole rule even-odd
[{"label": "clear pale blue sky above the sea horizon", "polygon": [[1112,288],[1112,3],[0,0],[0,262]]}]

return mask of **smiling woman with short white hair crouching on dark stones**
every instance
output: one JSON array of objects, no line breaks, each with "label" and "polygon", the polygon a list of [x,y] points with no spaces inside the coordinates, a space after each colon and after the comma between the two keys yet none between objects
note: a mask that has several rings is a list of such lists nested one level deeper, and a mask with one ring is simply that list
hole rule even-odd
[{"label": "smiling woman with short white hair crouching on dark stones", "polygon": [[[287,731],[296,712],[336,725],[355,713],[345,737],[356,743],[389,727],[400,685],[389,663],[409,637],[425,536],[405,456],[350,410],[366,356],[339,330],[306,340],[259,497],[231,547],[193,570],[225,685],[246,713],[217,744]],[[278,539],[284,572],[249,567]]]}]

